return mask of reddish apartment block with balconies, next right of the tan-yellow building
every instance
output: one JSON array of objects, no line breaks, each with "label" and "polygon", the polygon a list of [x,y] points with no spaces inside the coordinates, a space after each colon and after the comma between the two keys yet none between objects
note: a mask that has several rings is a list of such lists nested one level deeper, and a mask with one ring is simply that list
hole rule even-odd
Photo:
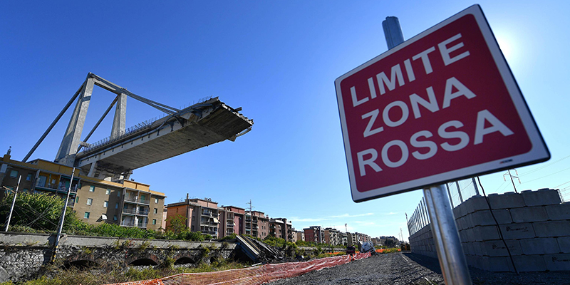
[{"label": "reddish apartment block with balconies, next right of the tan-yellow building", "polygon": [[185,218],[186,227],[191,232],[202,232],[219,237],[219,208],[212,199],[189,199],[186,195],[184,202],[167,204],[166,227],[170,227],[170,217]]}]

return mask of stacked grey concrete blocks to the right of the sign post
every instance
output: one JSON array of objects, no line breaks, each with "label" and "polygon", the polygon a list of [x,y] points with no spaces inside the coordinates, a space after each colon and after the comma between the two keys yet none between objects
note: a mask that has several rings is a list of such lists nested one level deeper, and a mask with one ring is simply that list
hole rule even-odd
[{"label": "stacked grey concrete blocks to the right of the sign post", "polygon": [[489,217],[488,207],[468,213],[473,229],[479,232],[474,237],[482,239],[484,257],[471,259],[477,263],[470,265],[489,271],[514,271],[510,253],[518,271],[570,270],[570,259],[566,259],[570,254],[570,204],[561,204],[557,190],[507,192],[488,198],[494,219]]}]

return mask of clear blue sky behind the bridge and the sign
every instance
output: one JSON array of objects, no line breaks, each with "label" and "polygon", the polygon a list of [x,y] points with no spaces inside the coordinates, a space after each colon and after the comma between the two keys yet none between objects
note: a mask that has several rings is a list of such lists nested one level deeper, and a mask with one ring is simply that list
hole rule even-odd
[{"label": "clear blue sky behind the bridge and the sign", "polygon": [[[21,160],[92,72],[184,107],[210,95],[254,119],[252,132],[135,170],[167,202],[210,197],[271,217],[405,239],[413,191],[354,203],[334,80],[387,50],[382,21],[405,38],[469,1],[4,1],[0,4],[0,150]],[[552,158],[518,169],[517,189],[570,186],[567,1],[480,1]],[[83,137],[113,95],[95,88]],[[128,100],[127,126],[162,115]],[[53,160],[70,113],[32,159]],[[90,142],[110,135],[107,118]],[[487,192],[511,190],[503,173]],[[517,182],[518,183],[518,182]],[[565,184],[566,183],[566,184]],[[570,198],[570,197],[569,197]]]}]

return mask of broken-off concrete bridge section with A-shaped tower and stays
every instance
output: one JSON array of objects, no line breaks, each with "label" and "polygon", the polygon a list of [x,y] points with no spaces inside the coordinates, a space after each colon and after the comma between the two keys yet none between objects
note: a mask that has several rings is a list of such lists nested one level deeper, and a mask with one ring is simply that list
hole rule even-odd
[{"label": "broken-off concrete bridge section with A-shaped tower and stays", "polygon": [[[93,130],[82,141],[81,133],[93,86],[99,86],[117,96],[98,123],[95,124]],[[146,103],[167,115],[164,118],[140,123],[133,128],[126,129],[127,97]],[[100,179],[128,179],[133,170],[145,165],[197,150],[216,142],[234,141],[240,135],[252,130],[253,125],[253,120],[239,113],[241,108],[229,107],[217,97],[179,110],[142,98],[93,73],[88,73],[86,81],[46,130],[46,133],[26,155],[24,162],[28,160],[76,98],[76,108],[54,161],[63,165],[78,167],[83,175]],[[110,137],[94,144],[88,143],[87,140],[115,103],[115,117]]]}]

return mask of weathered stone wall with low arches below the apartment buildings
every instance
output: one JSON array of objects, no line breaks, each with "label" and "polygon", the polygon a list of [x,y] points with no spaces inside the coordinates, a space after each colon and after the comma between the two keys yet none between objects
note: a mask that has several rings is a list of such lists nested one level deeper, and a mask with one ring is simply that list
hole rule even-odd
[{"label": "weathered stone wall with low arches below the apartment buildings", "polygon": [[[0,282],[24,281],[47,265],[55,234],[0,233]],[[209,251],[204,249],[208,248]],[[56,263],[95,263],[99,266],[125,267],[131,263],[160,265],[167,259],[185,263],[227,259],[236,244],[228,242],[185,242],[159,239],[124,239],[64,234]],[[205,254],[206,252],[209,252]]]}]

